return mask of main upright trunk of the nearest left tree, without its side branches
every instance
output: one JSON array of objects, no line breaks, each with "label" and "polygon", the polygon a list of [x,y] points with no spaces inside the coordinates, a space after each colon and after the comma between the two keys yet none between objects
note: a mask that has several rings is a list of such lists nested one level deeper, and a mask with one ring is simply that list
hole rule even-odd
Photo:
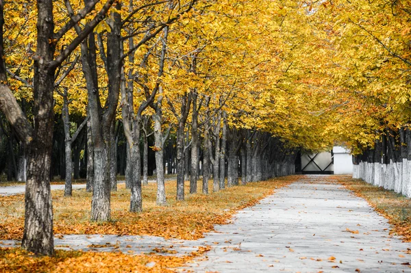
[{"label": "main upright trunk of the nearest left tree, without its side branches", "polygon": [[[53,255],[53,207],[50,166],[53,148],[53,90],[55,67],[50,67],[55,44],[53,1],[37,2],[37,47],[34,60],[34,138],[29,151],[25,190],[25,226],[22,247],[36,254]],[[1,12],[2,14],[3,12]]]}]

